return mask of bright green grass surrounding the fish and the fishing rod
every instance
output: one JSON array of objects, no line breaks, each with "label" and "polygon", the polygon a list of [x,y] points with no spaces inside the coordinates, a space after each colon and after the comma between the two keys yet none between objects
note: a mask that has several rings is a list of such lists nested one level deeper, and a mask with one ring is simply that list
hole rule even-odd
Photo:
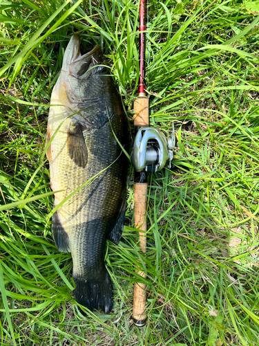
[{"label": "bright green grass surrounding the fish and the fishing rod", "polygon": [[[46,122],[64,49],[79,33],[84,48],[102,46],[132,125],[138,3],[73,3],[0,3],[0,345],[258,345],[259,2],[148,3],[150,122],[166,135],[174,122],[178,149],[174,170],[149,176],[145,259],[129,172],[124,237],[106,253],[108,316],[83,316],[70,254],[52,239]],[[131,320],[139,259],[142,331]]]}]

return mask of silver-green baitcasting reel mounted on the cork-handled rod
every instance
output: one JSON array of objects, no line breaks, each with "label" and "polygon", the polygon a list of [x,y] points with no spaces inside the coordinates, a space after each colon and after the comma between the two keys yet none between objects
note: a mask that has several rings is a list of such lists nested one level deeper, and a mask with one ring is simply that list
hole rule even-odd
[{"label": "silver-green baitcasting reel mounted on the cork-handled rod", "polygon": [[131,152],[131,162],[135,172],[157,172],[162,170],[166,161],[171,168],[173,159],[173,149],[175,149],[175,130],[166,139],[162,131],[153,127],[140,127],[135,136],[133,150]]}]

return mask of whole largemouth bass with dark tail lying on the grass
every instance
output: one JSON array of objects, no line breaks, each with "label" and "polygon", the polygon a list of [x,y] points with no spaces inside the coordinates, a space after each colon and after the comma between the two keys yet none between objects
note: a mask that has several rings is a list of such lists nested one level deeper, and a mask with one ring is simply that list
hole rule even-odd
[{"label": "whole largemouth bass with dark tail lying on the grass", "polygon": [[127,161],[119,143],[126,146],[126,118],[101,48],[81,55],[79,46],[73,35],[50,101],[54,208],[88,183],[52,216],[52,235],[59,251],[72,254],[77,302],[108,313],[113,292],[104,255],[106,239],[118,244],[124,226]]}]

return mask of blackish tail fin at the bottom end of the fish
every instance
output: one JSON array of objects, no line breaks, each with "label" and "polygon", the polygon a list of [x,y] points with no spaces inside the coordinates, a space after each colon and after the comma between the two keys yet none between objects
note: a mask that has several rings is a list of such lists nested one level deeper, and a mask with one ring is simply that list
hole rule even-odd
[{"label": "blackish tail fin at the bottom end of the fish", "polygon": [[109,313],[113,309],[113,291],[108,271],[103,280],[73,278],[76,284],[75,300],[79,304],[90,311],[101,309],[104,313]]}]

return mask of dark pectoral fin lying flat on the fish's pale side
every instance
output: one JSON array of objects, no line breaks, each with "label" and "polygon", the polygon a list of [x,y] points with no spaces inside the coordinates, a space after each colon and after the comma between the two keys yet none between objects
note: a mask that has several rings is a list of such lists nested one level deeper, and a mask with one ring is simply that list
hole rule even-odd
[{"label": "dark pectoral fin lying flat on the fish's pale side", "polygon": [[71,122],[68,129],[68,154],[76,165],[86,167],[88,150],[79,122]]}]

